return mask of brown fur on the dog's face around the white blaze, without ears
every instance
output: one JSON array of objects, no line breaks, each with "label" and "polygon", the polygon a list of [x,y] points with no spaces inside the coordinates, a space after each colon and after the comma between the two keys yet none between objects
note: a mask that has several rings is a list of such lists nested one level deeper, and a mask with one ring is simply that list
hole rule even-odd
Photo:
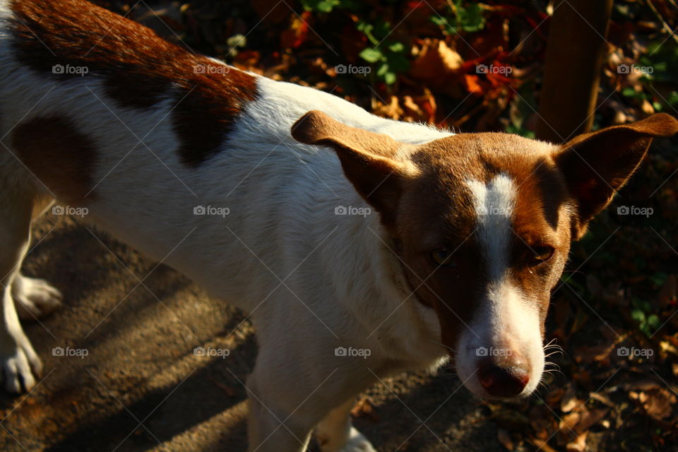
[{"label": "brown fur on the dog's face around the white blaze, without ears", "polygon": [[[435,309],[448,347],[456,347],[489,283],[475,234],[477,214],[469,179],[487,183],[503,173],[516,186],[511,278],[539,302],[543,326],[549,291],[561,274],[570,238],[570,200],[552,159],[556,149],[506,133],[463,133],[422,145],[412,155],[422,177],[403,189],[397,216],[399,254],[410,286],[419,287],[418,299]],[[540,268],[528,266],[529,246],[545,242],[557,248],[557,257]],[[454,251],[455,267],[436,269],[430,254],[441,248]]]}]

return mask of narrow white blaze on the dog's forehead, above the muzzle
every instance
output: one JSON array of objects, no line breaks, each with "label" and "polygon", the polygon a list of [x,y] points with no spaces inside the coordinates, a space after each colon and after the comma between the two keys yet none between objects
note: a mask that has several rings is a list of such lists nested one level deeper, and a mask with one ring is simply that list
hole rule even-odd
[{"label": "narrow white blaze on the dog's forehead, above the muzzle", "polygon": [[487,262],[489,279],[501,279],[509,264],[511,215],[516,200],[516,188],[506,174],[490,182],[467,182],[473,198],[480,247]]}]

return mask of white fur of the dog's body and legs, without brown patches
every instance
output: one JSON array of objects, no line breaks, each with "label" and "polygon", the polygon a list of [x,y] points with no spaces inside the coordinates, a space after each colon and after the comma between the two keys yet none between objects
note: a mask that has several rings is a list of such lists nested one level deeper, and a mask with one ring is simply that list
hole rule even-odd
[{"label": "white fur of the dog's body and legs, without brown patches", "polygon": [[[167,119],[179,97],[168,96],[153,109],[129,109],[92,77],[63,83],[35,73],[8,49],[7,15],[0,1],[0,136],[7,146],[0,146],[0,251],[23,256],[31,200],[52,198],[16,158],[11,130],[36,117],[66,117],[97,149],[85,221],[177,268],[254,320],[261,350],[246,385],[251,443],[268,438],[259,451],[301,450],[310,429],[369,386],[374,374],[432,367],[446,356],[437,343],[439,325],[430,315],[422,321],[422,307],[410,297],[376,213],[335,215],[337,206],[366,203],[335,153],[298,143],[290,127],[319,109],[405,143],[451,133],[381,119],[339,97],[258,77],[258,100],[244,109],[222,152],[198,169],[187,168]],[[194,215],[196,206],[229,213]],[[0,266],[3,274],[15,268],[4,285],[20,278],[19,266],[16,258]],[[24,288],[16,280],[15,291]],[[0,331],[0,364],[6,388],[20,391],[21,379],[24,389],[35,385],[40,360],[8,300],[7,289],[4,323],[10,328]],[[340,346],[371,354],[335,356]],[[341,432],[333,436],[336,450],[371,450],[355,429]]]}]

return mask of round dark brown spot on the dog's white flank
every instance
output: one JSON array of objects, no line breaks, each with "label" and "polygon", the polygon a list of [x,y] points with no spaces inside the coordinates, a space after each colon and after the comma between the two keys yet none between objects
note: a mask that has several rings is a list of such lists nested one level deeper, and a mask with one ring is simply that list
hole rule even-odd
[{"label": "round dark brown spot on the dog's white flank", "polygon": [[[63,117],[37,117],[13,130],[12,148],[59,200],[80,206],[92,189],[97,160],[92,139]],[[88,199],[95,198],[90,194]]]}]

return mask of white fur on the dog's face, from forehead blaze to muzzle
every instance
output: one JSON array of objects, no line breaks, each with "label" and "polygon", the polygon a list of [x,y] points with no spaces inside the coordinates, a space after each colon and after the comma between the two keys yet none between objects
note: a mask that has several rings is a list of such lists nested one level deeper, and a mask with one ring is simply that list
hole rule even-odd
[{"label": "white fur on the dog's face, from forehead blaze to muzzle", "polygon": [[530,379],[522,394],[531,394],[542,376],[544,352],[540,335],[538,300],[528,300],[509,278],[509,244],[511,218],[516,189],[506,174],[499,174],[487,184],[470,180],[467,185],[475,205],[478,237],[488,284],[475,312],[470,331],[459,339],[456,367],[459,377],[474,393],[490,397],[475,376],[477,363],[488,353],[510,354],[527,360]]}]

